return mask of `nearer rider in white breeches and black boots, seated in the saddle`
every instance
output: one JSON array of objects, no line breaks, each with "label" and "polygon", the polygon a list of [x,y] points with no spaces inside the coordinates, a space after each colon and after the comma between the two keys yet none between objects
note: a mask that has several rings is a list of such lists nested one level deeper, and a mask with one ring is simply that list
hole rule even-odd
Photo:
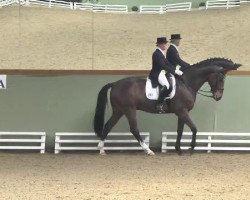
[{"label": "nearer rider in white breeches and black boots, seated in the saddle", "polygon": [[164,112],[164,99],[171,92],[171,87],[166,78],[166,74],[171,73],[179,76],[183,74],[181,70],[178,68],[175,69],[175,67],[166,59],[164,51],[166,50],[167,42],[166,37],[157,38],[157,48],[152,56],[152,69],[149,74],[149,79],[151,80],[153,87],[156,87],[159,84],[163,86],[156,105],[156,109],[160,113]]}]

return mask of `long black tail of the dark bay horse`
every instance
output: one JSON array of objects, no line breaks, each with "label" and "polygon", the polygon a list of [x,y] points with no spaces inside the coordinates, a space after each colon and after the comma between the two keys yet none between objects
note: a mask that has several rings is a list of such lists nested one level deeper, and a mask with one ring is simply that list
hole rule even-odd
[{"label": "long black tail of the dark bay horse", "polygon": [[102,136],[102,131],[104,127],[105,110],[108,99],[107,94],[109,88],[111,88],[112,86],[113,83],[108,83],[107,85],[103,86],[97,97],[95,117],[94,117],[94,131],[99,138],[101,138]]}]

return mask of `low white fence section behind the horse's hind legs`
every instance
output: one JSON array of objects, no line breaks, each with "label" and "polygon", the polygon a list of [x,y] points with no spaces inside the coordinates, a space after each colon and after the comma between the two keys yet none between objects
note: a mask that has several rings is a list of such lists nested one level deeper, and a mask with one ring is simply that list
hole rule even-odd
[{"label": "low white fence section behind the horse's hind legs", "polygon": [[[149,145],[149,133],[141,133]],[[67,150],[98,150],[99,139],[94,133],[56,133],[55,154]],[[131,133],[109,133],[105,150],[143,150]]]}]

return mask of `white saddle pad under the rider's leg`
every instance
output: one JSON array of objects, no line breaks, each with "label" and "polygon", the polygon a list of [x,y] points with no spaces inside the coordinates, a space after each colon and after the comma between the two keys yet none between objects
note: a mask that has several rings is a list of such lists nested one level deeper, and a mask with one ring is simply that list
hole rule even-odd
[{"label": "white saddle pad under the rider's leg", "polygon": [[[172,99],[176,93],[176,80],[172,74],[170,74],[170,80],[171,80],[170,84],[172,85],[173,90],[171,91],[169,96],[166,97],[165,99]],[[153,88],[151,80],[149,78],[147,78],[145,90],[146,90],[146,97],[148,99],[157,100],[159,98],[159,94],[160,94],[159,86],[157,86],[156,88]]]}]

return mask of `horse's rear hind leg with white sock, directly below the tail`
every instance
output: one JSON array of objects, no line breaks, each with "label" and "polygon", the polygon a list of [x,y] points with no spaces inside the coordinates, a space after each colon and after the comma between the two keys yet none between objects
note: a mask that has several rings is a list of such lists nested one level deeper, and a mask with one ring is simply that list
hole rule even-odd
[{"label": "horse's rear hind leg with white sock, directly below the tail", "polygon": [[112,116],[109,118],[107,123],[104,125],[101,140],[98,144],[98,148],[100,149],[100,154],[105,155],[104,151],[104,140],[106,139],[108,133],[111,131],[111,129],[116,125],[116,123],[119,121],[119,119],[122,117],[122,113],[119,111],[113,111]]}]

